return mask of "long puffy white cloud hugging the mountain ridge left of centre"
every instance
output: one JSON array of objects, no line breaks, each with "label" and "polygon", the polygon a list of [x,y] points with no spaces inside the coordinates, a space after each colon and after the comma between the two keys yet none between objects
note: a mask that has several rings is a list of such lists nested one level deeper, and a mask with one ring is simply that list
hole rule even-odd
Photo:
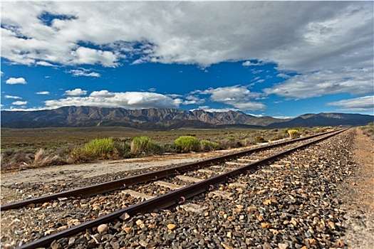
[{"label": "long puffy white cloud hugging the mountain ridge left of centre", "polygon": [[144,108],[177,108],[179,98],[173,99],[155,92],[109,92],[100,90],[92,92],[88,97],[66,97],[60,100],[46,100],[46,107],[58,108],[63,106],[94,106],[122,107],[125,109]]}]

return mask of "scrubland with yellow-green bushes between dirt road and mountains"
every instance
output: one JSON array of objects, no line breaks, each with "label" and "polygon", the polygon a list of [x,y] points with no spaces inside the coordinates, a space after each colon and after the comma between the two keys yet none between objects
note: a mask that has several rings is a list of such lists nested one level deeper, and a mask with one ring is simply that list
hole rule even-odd
[{"label": "scrubland with yellow-green bushes between dirt road and mountains", "polygon": [[[78,164],[155,154],[209,152],[248,147],[326,132],[297,129],[176,129],[143,131],[127,127],[1,129],[1,169]],[[362,128],[373,133],[373,124]]]}]

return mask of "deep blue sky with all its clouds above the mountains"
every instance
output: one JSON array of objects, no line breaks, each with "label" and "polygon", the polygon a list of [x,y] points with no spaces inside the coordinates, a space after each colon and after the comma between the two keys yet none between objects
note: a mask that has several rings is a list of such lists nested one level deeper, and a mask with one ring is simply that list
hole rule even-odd
[{"label": "deep blue sky with all its clouds above the mountains", "polygon": [[373,115],[372,1],[3,1],[1,109]]}]

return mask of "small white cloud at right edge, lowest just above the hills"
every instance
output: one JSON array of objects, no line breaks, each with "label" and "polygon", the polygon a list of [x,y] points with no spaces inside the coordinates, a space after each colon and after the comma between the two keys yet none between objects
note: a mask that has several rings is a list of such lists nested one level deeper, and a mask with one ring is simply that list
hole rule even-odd
[{"label": "small white cloud at right edge, lowest just above the hills", "polygon": [[374,115],[374,95],[329,102],[327,105],[341,107],[340,111],[371,112]]}]

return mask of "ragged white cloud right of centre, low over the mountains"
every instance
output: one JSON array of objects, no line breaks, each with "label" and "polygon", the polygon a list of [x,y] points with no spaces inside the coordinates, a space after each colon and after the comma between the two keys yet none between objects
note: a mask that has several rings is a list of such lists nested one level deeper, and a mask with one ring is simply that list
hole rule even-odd
[{"label": "ragged white cloud right of centre, low over the mountains", "polygon": [[209,88],[207,90],[197,90],[201,95],[210,95],[210,100],[232,105],[240,110],[264,110],[266,105],[261,102],[254,102],[260,97],[257,92],[251,92],[244,86],[234,85],[224,88]]}]

